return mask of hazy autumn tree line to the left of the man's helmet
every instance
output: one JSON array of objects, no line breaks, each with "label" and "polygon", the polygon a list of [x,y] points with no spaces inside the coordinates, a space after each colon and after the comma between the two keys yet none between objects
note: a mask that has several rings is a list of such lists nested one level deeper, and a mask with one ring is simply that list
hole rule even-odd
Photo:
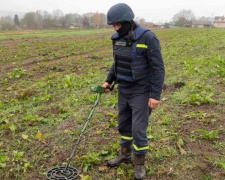
[{"label": "hazy autumn tree line to the left of the man's helmet", "polygon": [[0,30],[54,29],[54,28],[100,28],[106,26],[104,13],[65,14],[57,9],[52,13],[38,10],[28,12],[21,19],[18,15],[1,17]]}]

